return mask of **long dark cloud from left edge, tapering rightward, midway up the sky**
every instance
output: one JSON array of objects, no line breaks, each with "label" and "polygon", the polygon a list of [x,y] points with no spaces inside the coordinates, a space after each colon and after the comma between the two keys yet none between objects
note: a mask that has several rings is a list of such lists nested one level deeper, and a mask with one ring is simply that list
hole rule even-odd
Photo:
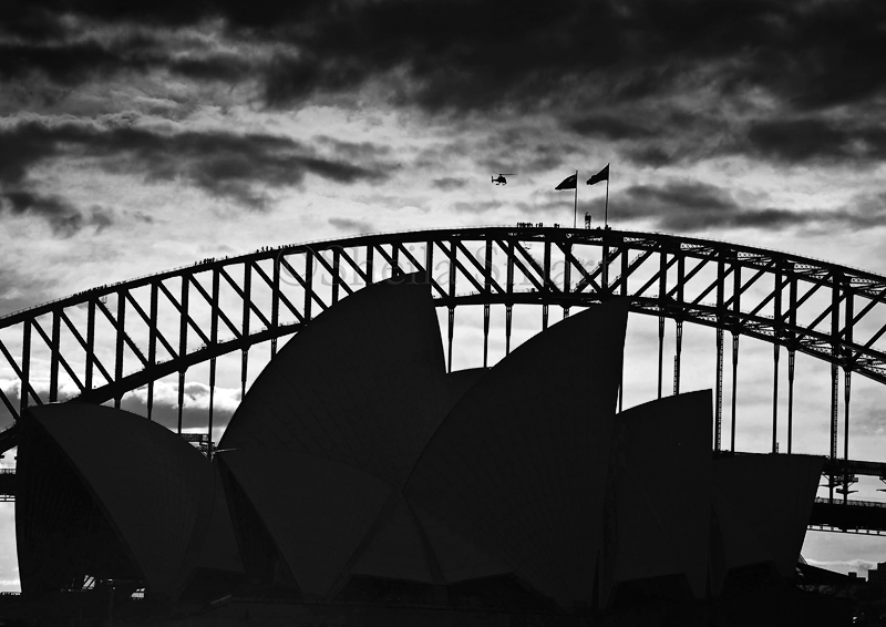
[{"label": "long dark cloud from left edge, tapering rightward, midway up the sky", "polygon": [[147,181],[182,181],[262,209],[266,189],[301,183],[313,174],[337,183],[378,182],[383,163],[358,165],[318,156],[309,146],[268,134],[222,131],[162,133],[132,126],[21,123],[0,131],[0,183],[27,184],[27,173],[49,158],[95,158],[107,172]]}]

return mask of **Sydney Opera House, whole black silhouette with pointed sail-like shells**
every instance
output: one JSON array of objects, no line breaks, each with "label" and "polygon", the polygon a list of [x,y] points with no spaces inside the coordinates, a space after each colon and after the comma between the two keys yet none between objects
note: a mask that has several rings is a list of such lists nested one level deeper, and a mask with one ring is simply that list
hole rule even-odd
[{"label": "Sydney Opera House, whole black silhouette with pointed sail-like shells", "polygon": [[187,625],[587,625],[790,582],[822,461],[714,459],[709,391],[617,413],[627,318],[595,305],[447,373],[429,286],[370,286],[285,346],[212,461],[127,412],[31,409],[23,596],[97,582]]}]

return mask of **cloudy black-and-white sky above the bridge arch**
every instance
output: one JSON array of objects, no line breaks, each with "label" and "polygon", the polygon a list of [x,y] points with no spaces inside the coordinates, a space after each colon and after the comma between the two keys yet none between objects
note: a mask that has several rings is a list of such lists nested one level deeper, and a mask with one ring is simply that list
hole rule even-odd
[{"label": "cloudy black-and-white sky above the bridge arch", "polygon": [[607,163],[615,228],[886,274],[884,58],[878,0],[7,0],[0,315],[265,245],[568,224],[555,185]]}]

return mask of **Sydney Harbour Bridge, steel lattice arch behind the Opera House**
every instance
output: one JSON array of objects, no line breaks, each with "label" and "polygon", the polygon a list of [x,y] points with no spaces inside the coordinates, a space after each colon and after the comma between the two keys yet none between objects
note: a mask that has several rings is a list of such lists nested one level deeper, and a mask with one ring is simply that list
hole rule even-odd
[{"label": "Sydney Harbour Bridge, steel lattice arch behind the Opera House", "polygon": [[[827,497],[816,500],[811,526],[886,534],[886,504],[849,498],[858,475],[886,481],[886,452],[877,460],[849,455],[853,374],[886,384],[886,277],[787,253],[664,234],[521,224],[364,235],[204,259],[17,311],[0,318],[0,368],[19,381],[12,391],[0,389],[11,417],[0,432],[0,452],[17,445],[16,420],[29,405],[83,401],[120,407],[124,394],[141,389],[151,419],[156,382],[176,376],[181,433],[185,376],[202,364],[208,366],[209,401],[207,436],[200,441],[208,438],[206,452],[212,454],[219,358],[239,353],[245,392],[250,349],[269,345],[274,356],[281,338],[341,298],[406,273],[424,273],[444,310],[450,370],[455,319],[459,308],[467,306],[483,308],[486,367],[492,364],[493,308],[505,312],[507,353],[515,307],[539,309],[544,329],[555,311],[568,316],[574,307],[627,297],[633,314],[658,319],[659,397],[680,391],[683,325],[714,329],[715,455],[750,454],[735,449],[742,337],[772,347],[772,454],[791,454],[793,434],[807,420],[794,415],[796,353],[825,362],[830,446],[815,454],[826,458]],[[667,369],[666,320],[674,328],[673,363]],[[786,381],[779,374],[783,353]],[[780,382],[786,386],[786,415],[779,411]],[[780,421],[787,434],[781,450]],[[8,500],[14,498],[14,472],[0,474],[0,492]]]}]

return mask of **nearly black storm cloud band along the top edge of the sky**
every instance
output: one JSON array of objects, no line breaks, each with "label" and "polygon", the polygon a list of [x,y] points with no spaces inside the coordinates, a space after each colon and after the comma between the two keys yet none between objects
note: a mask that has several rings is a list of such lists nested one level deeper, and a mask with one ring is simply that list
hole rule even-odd
[{"label": "nearly black storm cloud band along the top edge of the sky", "polygon": [[[549,106],[583,92],[614,104],[687,88],[727,96],[762,88],[790,107],[814,110],[869,100],[886,84],[879,0],[11,0],[0,22],[37,45],[74,34],[60,25],[63,14],[172,28],[222,18],[229,40],[276,47],[259,71],[272,106],[350,91],[394,70],[406,80],[392,83],[392,100],[429,111]],[[120,63],[131,62],[126,52],[116,51]],[[80,53],[113,63],[101,51]],[[66,63],[78,65],[75,58]],[[33,50],[23,59],[65,75],[63,59],[41,60]],[[259,70],[245,72],[233,56],[168,65],[225,81]],[[637,132],[615,120],[597,123],[612,135]]]}]

